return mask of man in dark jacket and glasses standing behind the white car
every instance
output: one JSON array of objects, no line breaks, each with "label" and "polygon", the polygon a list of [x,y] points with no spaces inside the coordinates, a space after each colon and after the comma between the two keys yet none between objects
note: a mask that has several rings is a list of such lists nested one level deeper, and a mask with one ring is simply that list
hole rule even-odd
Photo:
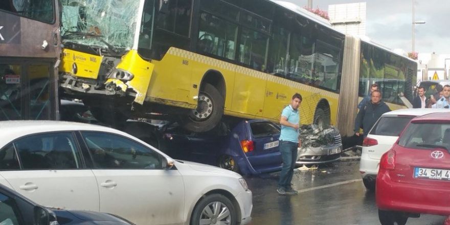
[{"label": "man in dark jacket and glasses standing behind the white car", "polygon": [[372,92],[370,102],[367,102],[358,112],[355,119],[355,134],[361,135],[359,129],[363,128],[364,137],[367,136],[369,130],[384,113],[391,111],[388,105],[381,101],[381,93],[378,90]]}]

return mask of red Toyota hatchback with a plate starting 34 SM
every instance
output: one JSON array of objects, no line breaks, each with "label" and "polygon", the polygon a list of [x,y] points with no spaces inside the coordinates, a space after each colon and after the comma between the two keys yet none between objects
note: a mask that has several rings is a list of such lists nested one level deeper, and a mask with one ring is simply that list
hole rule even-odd
[{"label": "red Toyota hatchback with a plate starting 34 SM", "polygon": [[450,215],[450,113],[417,117],[381,156],[376,205],[381,224],[421,213]]}]

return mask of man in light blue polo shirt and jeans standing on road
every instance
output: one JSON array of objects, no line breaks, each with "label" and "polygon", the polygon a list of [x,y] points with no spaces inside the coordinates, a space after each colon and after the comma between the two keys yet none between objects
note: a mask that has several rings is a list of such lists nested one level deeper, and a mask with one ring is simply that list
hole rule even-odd
[{"label": "man in light blue polo shirt and jeans standing on road", "polygon": [[298,191],[292,189],[290,182],[294,175],[294,168],[297,161],[297,148],[299,143],[299,107],[302,103],[302,96],[296,93],[292,96],[290,104],[283,109],[281,114],[281,135],[280,152],[283,160],[280,179],[278,181],[277,192],[281,195],[298,194]]}]

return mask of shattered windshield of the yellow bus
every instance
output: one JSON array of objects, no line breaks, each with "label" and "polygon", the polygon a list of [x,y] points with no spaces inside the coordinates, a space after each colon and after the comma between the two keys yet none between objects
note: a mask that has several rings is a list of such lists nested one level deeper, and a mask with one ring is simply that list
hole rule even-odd
[{"label": "shattered windshield of the yellow bus", "polygon": [[62,0],[63,42],[129,50],[133,46],[140,0]]}]

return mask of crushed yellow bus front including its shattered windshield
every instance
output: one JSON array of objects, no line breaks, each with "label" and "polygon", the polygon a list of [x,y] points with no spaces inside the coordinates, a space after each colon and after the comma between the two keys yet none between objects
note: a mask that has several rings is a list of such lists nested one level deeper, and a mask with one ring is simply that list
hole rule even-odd
[{"label": "crushed yellow bus front including its shattered windshield", "polygon": [[[62,0],[60,86],[143,104],[154,65],[138,54],[143,0]],[[90,94],[90,95],[86,95]]]}]

